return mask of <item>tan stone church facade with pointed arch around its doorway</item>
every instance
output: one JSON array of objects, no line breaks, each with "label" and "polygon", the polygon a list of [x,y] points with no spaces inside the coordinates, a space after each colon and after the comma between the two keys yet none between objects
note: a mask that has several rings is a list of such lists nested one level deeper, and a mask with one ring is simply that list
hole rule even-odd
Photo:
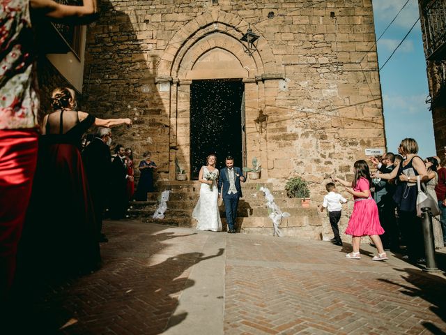
[{"label": "tan stone church facade with pointed arch around its doorway", "polygon": [[[249,166],[258,158],[259,181],[277,190],[303,177],[316,201],[330,176],[352,176],[365,149],[385,148],[371,0],[100,5],[86,35],[82,108],[131,117],[132,128],[114,130],[114,144],[132,147],[135,161],[151,151],[160,179],[175,179],[176,160],[196,177],[191,157],[204,164],[212,152],[191,145],[197,128],[224,132],[209,141],[220,159],[238,155],[236,165]],[[259,36],[252,54],[240,40],[249,28]],[[213,105],[233,94],[228,82],[240,87],[238,98],[229,97],[231,116],[228,103]],[[215,107],[194,118],[196,96]],[[239,139],[236,153],[224,147],[228,138]]]}]

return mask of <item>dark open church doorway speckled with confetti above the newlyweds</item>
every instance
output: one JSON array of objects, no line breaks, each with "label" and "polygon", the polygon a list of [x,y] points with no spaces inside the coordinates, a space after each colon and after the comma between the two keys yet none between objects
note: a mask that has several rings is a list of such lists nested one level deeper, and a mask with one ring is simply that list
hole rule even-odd
[{"label": "dark open church doorway speckled with confetti above the newlyweds", "polygon": [[217,168],[233,156],[243,164],[242,80],[193,80],[190,87],[190,166],[198,179],[209,154],[217,155]]}]

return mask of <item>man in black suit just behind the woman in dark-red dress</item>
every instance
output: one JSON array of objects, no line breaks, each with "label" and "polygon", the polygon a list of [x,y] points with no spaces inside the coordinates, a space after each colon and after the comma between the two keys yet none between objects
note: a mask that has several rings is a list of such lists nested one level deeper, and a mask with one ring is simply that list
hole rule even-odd
[{"label": "man in black suit just behind the woman in dark-red dress", "polygon": [[82,152],[87,179],[89,181],[91,200],[95,211],[96,224],[98,225],[98,240],[107,242],[105,234],[102,234],[102,212],[104,211],[105,198],[109,194],[112,161],[109,145],[112,142],[110,128],[98,128],[95,137]]}]

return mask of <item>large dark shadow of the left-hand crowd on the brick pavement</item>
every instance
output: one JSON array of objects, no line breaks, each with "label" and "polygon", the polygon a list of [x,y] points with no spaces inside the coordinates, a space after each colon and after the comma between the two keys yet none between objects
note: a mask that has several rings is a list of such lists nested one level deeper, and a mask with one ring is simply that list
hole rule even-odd
[{"label": "large dark shadow of the left-hand crowd on the brick pavement", "polygon": [[113,225],[110,242],[102,244],[102,269],[93,274],[45,281],[34,274],[22,281],[10,303],[6,334],[161,334],[183,322],[187,313],[174,313],[180,293],[194,285],[190,267],[224,249],[206,257],[169,257],[164,242],[191,234],[154,229],[148,234],[138,225]]}]

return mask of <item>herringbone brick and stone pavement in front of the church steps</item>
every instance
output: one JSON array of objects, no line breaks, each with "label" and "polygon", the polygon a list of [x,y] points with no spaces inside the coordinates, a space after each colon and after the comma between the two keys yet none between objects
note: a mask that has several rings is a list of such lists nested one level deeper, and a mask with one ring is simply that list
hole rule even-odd
[{"label": "herringbone brick and stone pavement in front of the church steps", "polygon": [[105,232],[102,268],[33,292],[8,334],[446,334],[445,274],[373,262],[367,244],[347,260],[349,244],[136,221]]}]

